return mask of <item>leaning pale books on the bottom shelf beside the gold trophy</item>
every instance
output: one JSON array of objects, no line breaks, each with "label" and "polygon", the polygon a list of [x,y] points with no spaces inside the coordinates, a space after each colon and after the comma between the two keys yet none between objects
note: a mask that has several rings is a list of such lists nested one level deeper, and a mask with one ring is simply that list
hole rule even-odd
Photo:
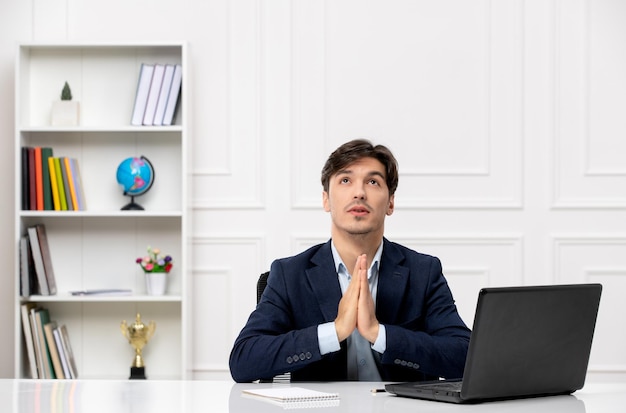
[{"label": "leaning pale books on the bottom shelf beside the gold trophy", "polygon": [[48,309],[21,305],[22,329],[33,379],[78,378],[67,327],[50,318]]}]

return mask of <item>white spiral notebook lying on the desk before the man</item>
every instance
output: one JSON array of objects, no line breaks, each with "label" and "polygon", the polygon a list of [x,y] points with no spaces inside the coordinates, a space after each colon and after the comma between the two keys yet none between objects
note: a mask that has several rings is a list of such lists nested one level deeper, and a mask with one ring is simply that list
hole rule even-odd
[{"label": "white spiral notebook lying on the desk before the man", "polygon": [[308,406],[338,406],[339,394],[303,387],[270,387],[263,389],[245,389],[241,391],[243,396],[258,398],[279,404],[284,408]]}]

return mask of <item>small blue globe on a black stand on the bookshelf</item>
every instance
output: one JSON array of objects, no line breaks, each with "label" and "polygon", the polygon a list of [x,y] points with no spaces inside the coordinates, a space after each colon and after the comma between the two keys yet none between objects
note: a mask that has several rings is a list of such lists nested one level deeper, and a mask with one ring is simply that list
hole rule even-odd
[{"label": "small blue globe on a black stand on the bookshelf", "polygon": [[145,194],[154,183],[154,168],[145,156],[124,159],[117,167],[117,183],[131,202],[122,209],[143,209],[134,201],[135,196]]}]

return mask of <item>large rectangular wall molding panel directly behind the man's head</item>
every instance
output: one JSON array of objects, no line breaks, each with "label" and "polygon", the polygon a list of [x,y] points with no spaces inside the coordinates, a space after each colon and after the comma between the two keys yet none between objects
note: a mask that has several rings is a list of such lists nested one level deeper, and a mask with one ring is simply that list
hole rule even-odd
[{"label": "large rectangular wall molding panel directly behind the man's head", "polygon": [[[357,3],[309,1],[293,5],[292,128],[297,168],[292,181],[292,207],[317,208],[319,171],[327,154],[346,139],[367,137],[376,143],[384,142],[399,158],[399,190],[403,192],[399,208],[520,208],[523,21],[519,3],[483,1],[477,3],[480,7],[476,3],[469,7],[456,2],[455,7],[467,9],[468,13],[448,16],[447,23],[473,35],[461,43],[458,36],[443,36],[443,46],[439,47],[444,50],[438,52],[431,50],[428,42],[403,38],[406,33],[397,29],[399,22],[389,26],[382,23],[381,30],[388,31],[392,39],[397,36],[417,54],[437,53],[442,61],[434,66],[429,60],[401,58],[387,52],[390,45],[380,45],[377,32],[370,34],[359,25],[354,33],[342,30],[338,24],[343,21],[343,13],[358,8]],[[427,38],[428,31],[438,30],[429,14],[442,6],[422,6],[425,10],[394,7],[399,6],[385,5],[374,12],[380,13],[383,22],[391,14],[407,14],[402,22],[411,20],[422,27],[416,29],[418,37]],[[308,53],[303,53],[306,48]],[[467,48],[474,50],[472,55],[463,52]],[[367,54],[374,52],[387,59],[368,60]],[[444,69],[449,77],[433,85],[427,79],[436,79],[434,74],[442,70],[448,54],[460,56],[463,64],[452,66],[450,61]],[[367,64],[353,67],[359,59]],[[414,76],[409,75],[410,69]],[[406,74],[401,77],[402,84],[389,78],[387,72],[391,70]],[[451,82],[453,78],[460,79],[460,83]],[[385,100],[389,92],[379,89],[379,99],[385,104],[368,100],[363,88],[370,83],[374,87],[387,84],[404,88],[414,92],[415,97],[407,95],[393,114],[387,113],[390,109],[385,105],[394,107],[396,103]],[[449,93],[459,93],[458,89],[463,90],[460,95],[472,98],[442,101]],[[433,112],[437,104],[445,106],[445,111]],[[432,114],[432,118],[420,113]],[[441,116],[445,119],[439,119]],[[395,118],[397,124],[392,121]],[[385,128],[377,125],[380,122],[387,122]],[[438,126],[431,127],[432,122]]]}]

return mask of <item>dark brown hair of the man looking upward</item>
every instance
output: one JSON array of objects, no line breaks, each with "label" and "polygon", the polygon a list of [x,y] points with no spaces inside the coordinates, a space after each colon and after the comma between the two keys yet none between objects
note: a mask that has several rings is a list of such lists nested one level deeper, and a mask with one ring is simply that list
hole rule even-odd
[{"label": "dark brown hair of the man looking upward", "polygon": [[386,146],[374,146],[366,139],[346,142],[330,154],[322,168],[324,191],[328,192],[331,176],[362,158],[374,158],[384,165],[385,182],[389,188],[389,195],[395,194],[398,187],[398,161]]}]

